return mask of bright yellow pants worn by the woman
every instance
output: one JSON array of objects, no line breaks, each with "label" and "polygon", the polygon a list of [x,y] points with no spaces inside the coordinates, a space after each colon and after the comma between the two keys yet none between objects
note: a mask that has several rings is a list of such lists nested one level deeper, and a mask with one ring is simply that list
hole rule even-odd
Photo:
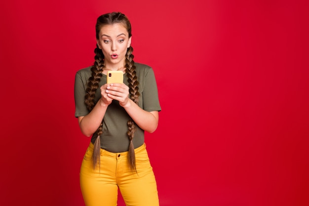
[{"label": "bright yellow pants worn by the woman", "polygon": [[116,206],[118,188],[126,206],[159,206],[158,193],[146,145],[135,149],[136,169],[128,167],[127,152],[101,149],[100,168],[92,165],[90,143],[80,168],[80,188],[86,206]]}]

